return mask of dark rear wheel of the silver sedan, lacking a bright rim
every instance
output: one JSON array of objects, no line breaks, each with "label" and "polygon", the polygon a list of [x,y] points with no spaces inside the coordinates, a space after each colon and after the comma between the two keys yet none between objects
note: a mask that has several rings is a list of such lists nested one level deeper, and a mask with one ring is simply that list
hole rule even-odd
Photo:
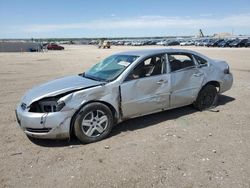
[{"label": "dark rear wheel of the silver sedan, lacking a bright rim", "polygon": [[200,90],[193,105],[195,108],[202,111],[216,106],[217,99],[218,91],[216,87],[209,84]]}]

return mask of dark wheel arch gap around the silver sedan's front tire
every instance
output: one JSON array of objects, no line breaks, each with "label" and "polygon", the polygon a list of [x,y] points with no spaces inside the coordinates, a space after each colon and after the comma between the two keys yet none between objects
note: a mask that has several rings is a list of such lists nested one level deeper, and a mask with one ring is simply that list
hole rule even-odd
[{"label": "dark wheel arch gap around the silver sedan's front tire", "polygon": [[70,138],[72,137],[72,136],[74,136],[75,135],[75,133],[74,133],[74,122],[75,122],[75,118],[76,118],[76,116],[77,116],[77,114],[79,113],[79,111],[84,107],[84,106],[86,106],[86,105],[88,105],[88,104],[91,104],[91,103],[101,103],[101,104],[104,104],[104,105],[106,105],[110,110],[111,110],[111,112],[112,112],[112,115],[113,115],[113,118],[114,118],[114,125],[117,123],[117,121],[118,121],[118,112],[116,111],[116,109],[115,109],[115,107],[113,106],[113,105],[111,105],[110,103],[108,103],[108,102],[105,102],[105,101],[100,101],[100,100],[91,100],[91,101],[88,101],[88,102],[86,102],[86,103],[84,103],[83,105],[81,105],[80,107],[79,107],[79,109],[74,113],[74,115],[72,116],[72,118],[71,118],[71,120],[70,120],[70,129],[69,129],[69,135],[70,135]]}]

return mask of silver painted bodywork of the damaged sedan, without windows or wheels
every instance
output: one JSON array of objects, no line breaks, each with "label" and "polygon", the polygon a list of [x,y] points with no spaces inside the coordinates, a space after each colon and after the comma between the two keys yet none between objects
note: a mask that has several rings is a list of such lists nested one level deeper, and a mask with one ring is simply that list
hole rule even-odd
[{"label": "silver painted bodywork of the damaged sedan, without windows or wheels", "polygon": [[[195,61],[196,65],[192,68],[171,72],[166,60],[166,73],[124,81],[130,71],[145,57],[172,52],[198,55],[206,59],[208,64],[205,67],[199,67]],[[210,81],[216,81],[220,84],[220,93],[232,87],[232,74],[224,73],[228,67],[225,61],[213,60],[194,51],[153,49],[119,54],[136,55],[139,58],[112,82],[104,83],[81,76],[70,76],[29,90],[16,109],[17,118],[21,122],[20,127],[27,135],[33,137],[67,138],[70,135],[73,115],[86,103],[99,101],[108,104],[114,110],[115,118],[119,123],[128,118],[192,104],[200,89]],[[65,103],[61,111],[53,113],[29,112],[32,103],[59,94],[65,94],[59,99]],[[23,103],[27,108],[21,108]],[[26,128],[52,129],[47,133],[34,133],[27,131]]]}]

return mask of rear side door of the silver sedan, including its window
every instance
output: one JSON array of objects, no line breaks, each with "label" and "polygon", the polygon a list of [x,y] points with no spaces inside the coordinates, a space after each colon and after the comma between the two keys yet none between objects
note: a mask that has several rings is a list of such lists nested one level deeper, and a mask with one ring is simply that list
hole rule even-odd
[{"label": "rear side door of the silver sedan, including its window", "polygon": [[170,107],[180,107],[195,101],[204,79],[204,73],[189,53],[168,53],[171,69]]}]

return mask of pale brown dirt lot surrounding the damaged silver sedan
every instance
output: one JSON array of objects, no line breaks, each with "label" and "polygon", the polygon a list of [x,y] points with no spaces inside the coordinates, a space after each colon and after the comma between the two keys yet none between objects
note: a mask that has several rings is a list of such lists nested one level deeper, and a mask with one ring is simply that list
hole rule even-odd
[{"label": "pale brown dirt lot surrounding the damaged silver sedan", "polygon": [[148,48],[65,47],[0,54],[0,187],[250,187],[250,49],[192,48],[227,60],[234,74],[213,111],[183,107],[128,120],[88,145],[34,143],[14,115],[27,89],[114,52]]}]

